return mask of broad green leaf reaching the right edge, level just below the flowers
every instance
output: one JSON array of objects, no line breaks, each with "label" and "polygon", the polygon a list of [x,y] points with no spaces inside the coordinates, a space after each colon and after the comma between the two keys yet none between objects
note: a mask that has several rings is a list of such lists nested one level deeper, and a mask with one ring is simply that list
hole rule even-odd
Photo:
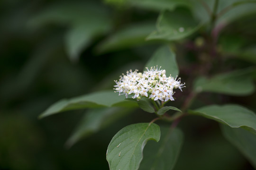
[{"label": "broad green leaf reaching the right edge, level just below the flowers", "polygon": [[239,105],[210,105],[196,110],[189,110],[189,113],[216,120],[230,127],[242,127],[252,133],[256,133],[255,113]]}]

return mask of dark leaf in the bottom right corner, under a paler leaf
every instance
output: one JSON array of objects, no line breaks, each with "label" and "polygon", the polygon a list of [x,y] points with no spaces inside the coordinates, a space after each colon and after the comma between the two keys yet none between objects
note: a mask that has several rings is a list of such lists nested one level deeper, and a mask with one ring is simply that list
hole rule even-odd
[{"label": "dark leaf in the bottom right corner, under a paler leaf", "polygon": [[256,135],[241,128],[221,125],[223,136],[251,162],[256,169]]}]

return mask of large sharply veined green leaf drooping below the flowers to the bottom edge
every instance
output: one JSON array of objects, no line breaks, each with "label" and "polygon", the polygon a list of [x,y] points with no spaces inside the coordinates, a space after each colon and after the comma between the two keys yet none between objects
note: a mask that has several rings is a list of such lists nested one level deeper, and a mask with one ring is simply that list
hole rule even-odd
[{"label": "large sharply veined green leaf drooping below the flowers to the bottom edge", "polygon": [[107,150],[110,170],[137,170],[148,140],[160,139],[160,127],[154,123],[137,123],[122,128]]}]

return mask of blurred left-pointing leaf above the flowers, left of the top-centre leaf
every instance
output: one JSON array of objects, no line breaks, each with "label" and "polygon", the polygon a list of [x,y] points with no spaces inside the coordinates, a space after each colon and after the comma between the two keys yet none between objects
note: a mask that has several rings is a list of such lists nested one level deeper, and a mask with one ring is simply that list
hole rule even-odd
[{"label": "blurred left-pointing leaf above the flowers, left of the top-centre leaf", "polygon": [[140,23],[137,25],[126,26],[115,34],[103,40],[96,48],[97,52],[104,53],[134,47],[140,44],[152,42],[145,41],[146,36],[155,29],[155,23]]}]

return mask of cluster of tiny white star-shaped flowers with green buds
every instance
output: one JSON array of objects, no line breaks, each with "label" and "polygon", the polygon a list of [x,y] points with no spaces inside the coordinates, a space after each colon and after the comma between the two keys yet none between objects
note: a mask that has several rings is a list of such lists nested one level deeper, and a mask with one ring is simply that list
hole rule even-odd
[{"label": "cluster of tiny white star-shaped flowers with green buds", "polygon": [[143,73],[137,73],[138,70],[127,71],[126,75],[120,76],[119,81],[115,80],[117,84],[114,85],[115,92],[119,92],[119,95],[125,94],[126,98],[128,98],[128,94],[134,94],[132,98],[138,100],[146,96],[155,101],[174,101],[173,89],[179,88],[182,91],[185,83],[181,84],[181,78],[177,79],[177,76],[175,79],[171,75],[167,77],[165,69],[160,68],[158,69],[157,66],[156,68],[146,68],[147,70]]}]

